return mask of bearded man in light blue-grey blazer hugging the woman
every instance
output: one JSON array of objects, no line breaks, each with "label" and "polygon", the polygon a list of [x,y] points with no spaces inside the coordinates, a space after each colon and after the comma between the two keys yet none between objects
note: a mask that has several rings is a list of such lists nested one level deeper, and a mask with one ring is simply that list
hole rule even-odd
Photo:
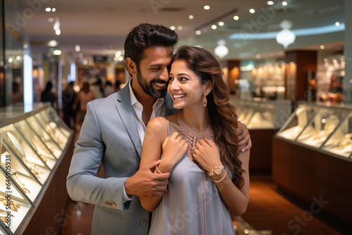
[{"label": "bearded man in light blue-grey blazer hugging the woman", "polygon": [[[75,201],[96,205],[92,234],[148,233],[149,212],[139,196],[163,196],[169,173],[154,174],[159,161],[139,169],[146,125],[151,118],[170,115],[168,65],[177,34],[162,25],[141,24],[125,41],[125,65],[132,80],[106,99],[87,105],[68,174],[68,193]],[[165,100],[164,97],[165,96]],[[165,105],[164,105],[165,104]],[[249,142],[242,125],[243,144]],[[100,163],[104,179],[96,177]]]}]

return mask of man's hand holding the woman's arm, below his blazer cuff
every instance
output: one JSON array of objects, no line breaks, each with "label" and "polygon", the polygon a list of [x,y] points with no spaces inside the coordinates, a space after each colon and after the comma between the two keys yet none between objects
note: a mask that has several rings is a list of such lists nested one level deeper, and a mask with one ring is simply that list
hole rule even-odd
[{"label": "man's hand holding the woman's arm, below his blazer cuff", "polygon": [[159,165],[161,160],[142,166],[136,174],[125,182],[127,195],[137,196],[163,196],[167,191],[170,173],[155,174],[151,169]]}]

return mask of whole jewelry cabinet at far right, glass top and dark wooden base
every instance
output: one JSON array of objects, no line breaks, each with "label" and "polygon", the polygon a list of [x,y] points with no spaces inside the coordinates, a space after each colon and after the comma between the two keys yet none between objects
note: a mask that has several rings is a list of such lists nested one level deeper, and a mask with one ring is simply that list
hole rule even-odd
[{"label": "whole jewelry cabinet at far right, glass top and dark wooden base", "polygon": [[320,215],[352,224],[352,107],[302,103],[273,138],[272,178],[277,189]]}]

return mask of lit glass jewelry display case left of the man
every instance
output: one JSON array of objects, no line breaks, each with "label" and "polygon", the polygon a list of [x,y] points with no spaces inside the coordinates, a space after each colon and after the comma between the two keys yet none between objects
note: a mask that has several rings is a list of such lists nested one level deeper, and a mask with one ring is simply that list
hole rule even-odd
[{"label": "lit glass jewelry display case left of the man", "polygon": [[[0,234],[1,231],[22,234],[32,223],[30,218],[39,205],[50,200],[44,194],[58,173],[73,137],[51,106],[38,104],[30,112],[23,110],[23,107],[1,110]],[[11,181],[6,181],[10,176]],[[6,229],[8,194],[11,194],[11,229]]]}]

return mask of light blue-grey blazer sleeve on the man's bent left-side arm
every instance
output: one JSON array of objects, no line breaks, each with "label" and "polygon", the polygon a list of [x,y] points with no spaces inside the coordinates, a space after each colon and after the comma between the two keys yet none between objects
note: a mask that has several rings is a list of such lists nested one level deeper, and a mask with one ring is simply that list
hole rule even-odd
[{"label": "light blue-grey blazer sleeve on the man's bent left-side arm", "polygon": [[74,201],[127,210],[130,202],[122,203],[127,177],[96,177],[105,148],[93,103],[89,102],[68,172],[68,194]]}]

